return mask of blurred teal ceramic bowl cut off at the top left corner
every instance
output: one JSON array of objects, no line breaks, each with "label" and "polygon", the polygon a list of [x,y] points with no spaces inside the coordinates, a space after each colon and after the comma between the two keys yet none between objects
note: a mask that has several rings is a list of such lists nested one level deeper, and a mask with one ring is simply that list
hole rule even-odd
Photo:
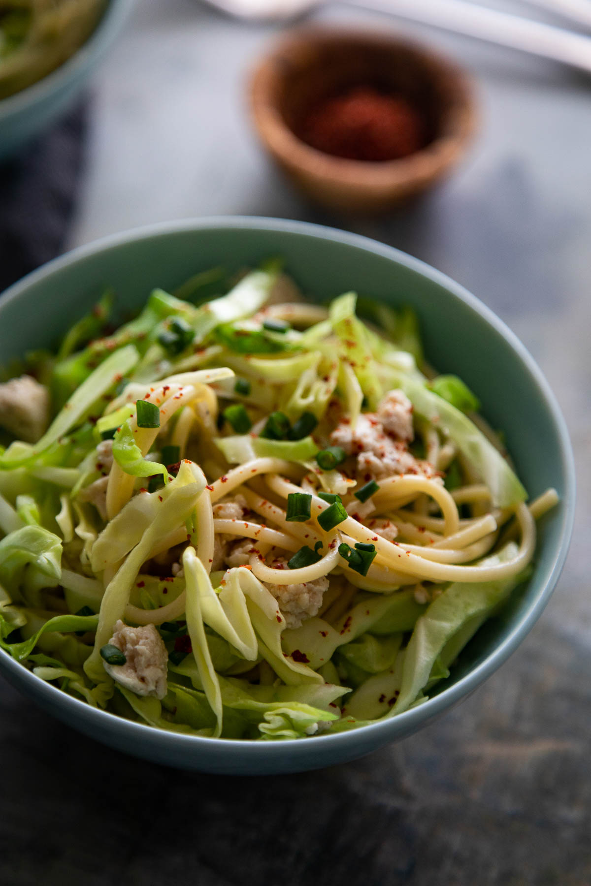
[{"label": "blurred teal ceramic bowl cut off at the top left corner", "polygon": [[109,0],[97,27],[72,58],[27,89],[0,99],[0,160],[39,135],[74,101],[121,31],[134,2]]}]

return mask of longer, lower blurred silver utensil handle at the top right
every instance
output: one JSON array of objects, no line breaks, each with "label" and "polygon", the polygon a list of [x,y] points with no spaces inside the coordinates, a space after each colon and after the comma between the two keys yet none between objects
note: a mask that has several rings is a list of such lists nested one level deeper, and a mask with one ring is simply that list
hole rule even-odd
[{"label": "longer, lower blurred silver utensil handle at the top right", "polygon": [[441,27],[552,58],[591,73],[591,38],[465,0],[346,0],[347,4]]}]

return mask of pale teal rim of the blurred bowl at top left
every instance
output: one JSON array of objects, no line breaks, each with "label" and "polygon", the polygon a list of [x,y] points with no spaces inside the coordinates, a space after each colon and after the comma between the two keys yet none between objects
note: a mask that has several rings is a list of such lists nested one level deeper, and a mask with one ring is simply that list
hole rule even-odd
[{"label": "pale teal rim of the blurred bowl at top left", "polygon": [[100,58],[107,51],[135,4],[136,0],[107,0],[97,27],[82,46],[74,51],[74,55],[66,58],[65,62],[41,80],[31,83],[25,89],[19,89],[12,96],[0,99],[0,123],[13,114],[24,111],[30,105],[43,102],[45,98],[65,86],[66,82],[74,79],[77,74],[82,74],[93,59]]}]

